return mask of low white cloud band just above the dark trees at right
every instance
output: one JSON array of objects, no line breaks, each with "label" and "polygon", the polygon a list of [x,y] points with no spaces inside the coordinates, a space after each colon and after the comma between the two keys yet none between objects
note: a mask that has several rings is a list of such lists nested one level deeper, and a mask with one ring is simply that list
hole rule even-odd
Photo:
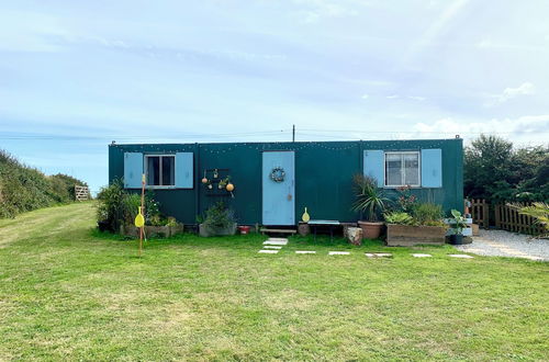
[{"label": "low white cloud band just above the dark trees at right", "polygon": [[493,118],[486,122],[462,122],[452,118],[438,120],[435,123],[416,123],[413,127],[416,136],[461,135],[462,138],[474,138],[481,133],[502,134],[514,140],[544,143],[549,132],[549,114],[527,115],[518,118]]}]

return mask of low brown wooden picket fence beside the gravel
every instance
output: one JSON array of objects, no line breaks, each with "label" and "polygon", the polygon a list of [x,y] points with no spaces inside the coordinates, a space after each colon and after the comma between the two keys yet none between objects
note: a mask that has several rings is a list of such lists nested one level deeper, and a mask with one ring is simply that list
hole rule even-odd
[{"label": "low brown wooden picket fence beside the gravel", "polygon": [[493,212],[492,225],[497,229],[530,235],[539,235],[545,231],[544,226],[536,223],[534,217],[519,214],[516,207],[495,204],[491,210],[490,203],[483,199],[471,199],[469,201],[471,202],[469,211],[473,223],[482,228],[488,229],[490,227],[490,214]]}]

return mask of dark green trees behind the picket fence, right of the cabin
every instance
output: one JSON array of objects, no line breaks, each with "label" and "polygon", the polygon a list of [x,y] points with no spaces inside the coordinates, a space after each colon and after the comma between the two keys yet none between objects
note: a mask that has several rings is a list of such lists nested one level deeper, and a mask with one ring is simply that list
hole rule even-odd
[{"label": "dark green trees behind the picket fence, right of the cabin", "polygon": [[464,194],[490,202],[549,200],[549,147],[514,149],[496,136],[481,135],[466,148]]}]

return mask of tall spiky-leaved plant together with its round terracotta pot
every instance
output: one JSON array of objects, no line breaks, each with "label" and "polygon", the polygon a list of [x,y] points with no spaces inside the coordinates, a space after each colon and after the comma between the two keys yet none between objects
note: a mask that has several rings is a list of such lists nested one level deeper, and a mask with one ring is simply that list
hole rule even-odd
[{"label": "tall spiky-leaved plant together with its round terracotta pot", "polygon": [[383,223],[379,222],[379,216],[383,214],[386,203],[390,202],[378,188],[376,179],[356,174],[352,178],[356,201],[352,211],[359,212],[366,220],[359,220],[358,225],[362,229],[362,237],[366,239],[377,239],[381,235]]}]

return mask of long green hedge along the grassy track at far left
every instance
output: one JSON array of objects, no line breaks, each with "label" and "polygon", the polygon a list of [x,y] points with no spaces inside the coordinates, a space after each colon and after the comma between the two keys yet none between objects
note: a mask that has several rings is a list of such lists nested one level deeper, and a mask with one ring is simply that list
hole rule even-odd
[{"label": "long green hedge along the grassy track at far left", "polygon": [[75,185],[86,183],[61,173],[45,176],[0,150],[0,218],[71,202]]}]

